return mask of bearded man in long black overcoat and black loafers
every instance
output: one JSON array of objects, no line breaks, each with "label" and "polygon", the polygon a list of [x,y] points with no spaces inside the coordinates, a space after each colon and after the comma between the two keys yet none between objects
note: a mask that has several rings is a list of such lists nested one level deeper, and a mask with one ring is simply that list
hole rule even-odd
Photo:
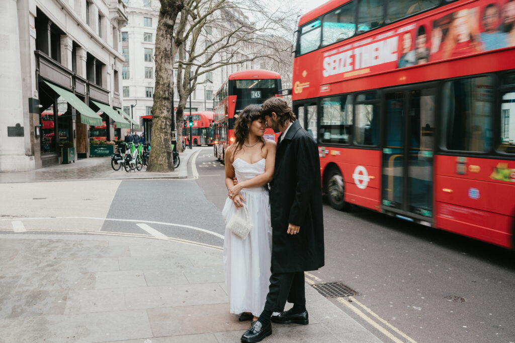
[{"label": "bearded man in long black overcoat and black loafers", "polygon": [[[242,342],[259,342],[271,335],[270,321],[307,324],[304,271],[324,265],[318,146],[282,98],[271,97],[261,111],[267,126],[282,132],[270,183],[272,275],[265,309]],[[288,311],[284,311],[286,301],[294,304]],[[280,315],[272,317],[273,312]]]}]

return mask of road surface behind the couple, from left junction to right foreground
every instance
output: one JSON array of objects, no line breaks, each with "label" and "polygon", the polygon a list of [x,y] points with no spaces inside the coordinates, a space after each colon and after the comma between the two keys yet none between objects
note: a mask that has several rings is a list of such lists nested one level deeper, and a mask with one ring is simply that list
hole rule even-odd
[{"label": "road surface behind the couple, from left junction to right foreground", "polygon": [[[76,241],[82,235],[153,237],[221,252],[224,165],[212,148],[182,156],[185,178],[124,180],[120,173],[118,179],[0,184],[10,194],[2,200],[0,233],[73,234]],[[323,210],[326,265],[306,273],[307,285],[341,282],[359,293],[329,300],[373,336],[411,343],[515,341],[512,252],[364,209],[344,213],[324,203]],[[202,268],[223,284],[221,262]]]}]

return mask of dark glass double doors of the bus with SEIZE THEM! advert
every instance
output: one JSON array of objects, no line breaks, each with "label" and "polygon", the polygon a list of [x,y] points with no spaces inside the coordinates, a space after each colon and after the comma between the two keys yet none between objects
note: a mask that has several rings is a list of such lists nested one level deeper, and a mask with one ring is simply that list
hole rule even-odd
[{"label": "dark glass double doors of the bus with SEIZE THEM! advert", "polygon": [[433,221],[435,94],[431,86],[385,93],[382,209],[404,219]]}]

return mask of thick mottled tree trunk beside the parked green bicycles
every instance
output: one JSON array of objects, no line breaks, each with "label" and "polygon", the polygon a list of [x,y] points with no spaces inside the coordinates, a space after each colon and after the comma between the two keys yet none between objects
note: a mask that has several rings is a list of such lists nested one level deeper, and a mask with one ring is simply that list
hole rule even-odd
[{"label": "thick mottled tree trunk beside the parked green bicycles", "polygon": [[147,171],[174,171],[171,148],[171,102],[174,89],[174,68],[171,44],[177,15],[184,7],[183,0],[161,0],[156,32],[156,85],[152,106],[152,149]]}]

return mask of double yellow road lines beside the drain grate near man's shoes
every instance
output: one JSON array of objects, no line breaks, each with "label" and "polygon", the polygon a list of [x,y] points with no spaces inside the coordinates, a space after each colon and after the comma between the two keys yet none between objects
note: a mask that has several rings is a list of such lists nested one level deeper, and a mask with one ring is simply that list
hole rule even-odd
[{"label": "double yellow road lines beside the drain grate near man's shoes", "polygon": [[[310,274],[308,272],[304,272],[304,274],[305,274],[306,282],[308,284],[312,285],[312,286],[316,283],[314,280],[316,280],[317,282],[322,282],[322,280],[319,279],[319,277],[317,277],[317,276],[315,276],[313,274]],[[312,280],[312,279],[314,279],[314,280]],[[367,306],[365,306],[361,302],[357,301],[354,297],[347,297],[347,299],[339,297],[339,298],[336,298],[336,300],[338,300],[338,302],[341,303],[342,305],[345,305],[352,312],[357,314],[360,318],[365,320],[367,323],[372,325],[376,330],[381,332],[383,335],[385,335],[386,337],[388,337],[389,339],[391,339],[395,343],[406,343],[406,341],[408,341],[410,343],[417,343],[416,340],[414,340],[413,338],[409,337],[408,335],[403,333],[401,330],[397,329],[395,326],[390,324],[388,321],[386,321],[383,318],[381,318],[379,315],[377,315],[375,312],[373,312],[370,308],[368,308]],[[357,306],[354,306],[351,302],[356,304],[357,306],[361,307],[361,309],[358,308]],[[362,311],[362,309],[366,313],[364,311]],[[373,318],[375,318],[375,320]],[[377,322],[379,322],[379,323],[377,323]],[[382,326],[381,324],[384,325],[384,326]],[[389,330],[393,331],[394,333],[398,334],[399,336],[401,336],[405,340],[401,340],[398,337],[394,336],[387,329],[389,329]]]}]

